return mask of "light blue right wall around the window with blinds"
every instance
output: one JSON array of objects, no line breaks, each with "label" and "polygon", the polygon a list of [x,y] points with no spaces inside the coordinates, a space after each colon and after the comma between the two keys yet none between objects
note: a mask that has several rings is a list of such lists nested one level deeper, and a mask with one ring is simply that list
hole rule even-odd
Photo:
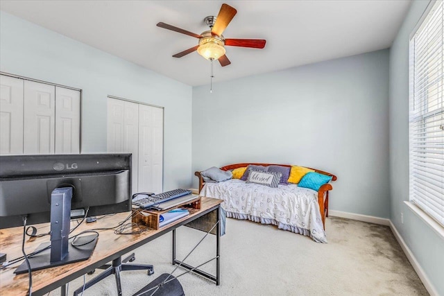
[{"label": "light blue right wall around the window with blinds", "polygon": [[390,50],[391,220],[438,295],[444,295],[444,239],[404,204],[409,200],[409,35],[428,3],[413,1]]}]

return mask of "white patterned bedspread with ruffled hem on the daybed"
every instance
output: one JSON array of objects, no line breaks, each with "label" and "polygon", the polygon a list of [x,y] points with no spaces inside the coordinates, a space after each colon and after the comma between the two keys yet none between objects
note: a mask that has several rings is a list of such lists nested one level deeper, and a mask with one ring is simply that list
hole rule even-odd
[{"label": "white patterned bedspread with ruffled hem on the daybed", "polygon": [[248,219],[327,243],[317,191],[295,184],[271,188],[232,179],[205,183],[200,195],[223,200],[227,217]]}]

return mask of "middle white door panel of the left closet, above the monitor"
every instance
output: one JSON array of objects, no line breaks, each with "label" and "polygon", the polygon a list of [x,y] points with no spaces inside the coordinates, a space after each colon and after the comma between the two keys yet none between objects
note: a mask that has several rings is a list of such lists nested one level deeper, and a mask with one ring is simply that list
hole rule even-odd
[{"label": "middle white door panel of the left closet, above the monitor", "polygon": [[56,87],[25,80],[24,154],[53,154]]}]

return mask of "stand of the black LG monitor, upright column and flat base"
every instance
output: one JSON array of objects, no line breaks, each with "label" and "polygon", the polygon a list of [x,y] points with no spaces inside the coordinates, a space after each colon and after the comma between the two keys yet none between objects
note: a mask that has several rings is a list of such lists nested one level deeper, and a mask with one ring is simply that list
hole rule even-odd
[{"label": "stand of the black LG monitor, upright column and flat base", "polygon": [[[71,187],[54,189],[51,193],[51,243],[42,243],[36,251],[43,250],[49,245],[51,247],[28,257],[32,271],[87,260],[94,251],[97,243],[95,234],[77,238],[76,245],[80,245],[78,247],[74,247],[68,241],[71,198]],[[26,261],[14,271],[17,275],[25,272],[28,272]]]}]

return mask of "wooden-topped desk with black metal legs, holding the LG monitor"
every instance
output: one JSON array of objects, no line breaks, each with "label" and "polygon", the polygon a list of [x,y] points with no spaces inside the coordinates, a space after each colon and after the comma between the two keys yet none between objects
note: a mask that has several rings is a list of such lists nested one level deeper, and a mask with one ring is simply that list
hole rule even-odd
[{"label": "wooden-topped desk with black metal legs, holding the LG monitor", "polygon": [[[32,272],[33,295],[37,296],[49,293],[49,291],[63,286],[69,281],[81,277],[85,275],[85,273],[99,268],[101,265],[117,259],[119,256],[123,256],[123,254],[133,251],[137,247],[171,231],[173,231],[173,264],[178,263],[179,261],[176,260],[176,228],[191,223],[194,228],[209,231],[212,225],[208,228],[205,220],[208,220],[208,218],[214,219],[214,217],[216,217],[216,221],[220,219],[221,202],[222,200],[215,198],[202,197],[200,209],[191,211],[189,216],[176,220],[158,230],[149,229],[142,234],[117,235],[114,234],[113,230],[99,230],[99,240],[97,241],[92,256],[88,260]],[[120,213],[114,216],[106,216],[103,219],[97,220],[95,223],[84,223],[80,225],[72,235],[87,229],[115,226],[128,217],[129,214],[129,212]],[[198,223],[199,220],[203,220],[203,223]],[[214,223],[216,223],[216,221],[214,221]],[[73,223],[75,225],[75,222]],[[199,224],[201,227],[196,226]],[[39,233],[49,232],[49,223],[35,226],[38,227]],[[220,224],[214,228],[216,229],[216,276],[208,275],[201,270],[194,270],[194,272],[205,277],[210,276],[210,279],[214,280],[216,285],[219,285]],[[22,236],[23,227],[0,229],[0,251],[7,254],[8,260],[22,256]],[[49,236],[35,238],[32,241],[28,239],[25,243],[26,254],[33,252],[40,243],[45,241],[49,241]],[[22,263],[22,261],[0,271],[1,296],[26,295],[28,292],[28,273],[22,275],[15,275],[13,273],[20,263]],[[185,268],[187,268],[187,266],[185,266]],[[62,294],[64,293],[65,291],[62,289]]]}]

